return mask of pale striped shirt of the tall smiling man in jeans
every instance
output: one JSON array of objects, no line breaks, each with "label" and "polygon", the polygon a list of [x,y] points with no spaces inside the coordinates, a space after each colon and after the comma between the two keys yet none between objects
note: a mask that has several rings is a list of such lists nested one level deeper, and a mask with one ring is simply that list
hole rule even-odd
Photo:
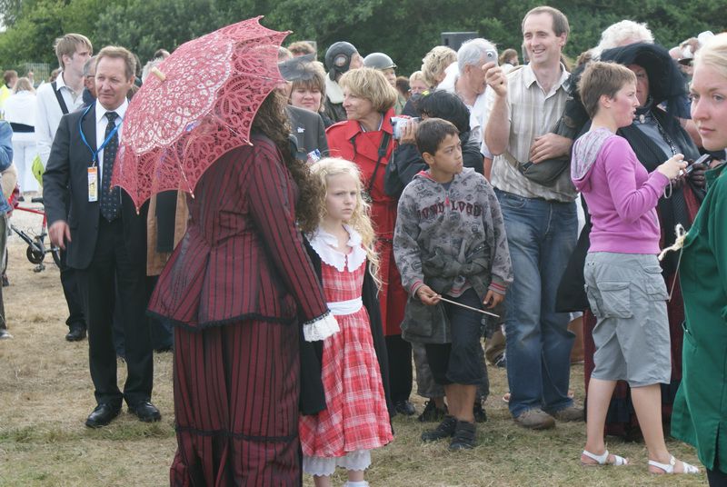
[{"label": "pale striped shirt of the tall smiling man in jeans", "polygon": [[[570,74],[563,65],[561,71],[561,79],[547,94],[538,83],[530,65],[513,69],[507,75],[510,140],[506,151],[513,154],[513,157],[521,163],[530,160],[530,147],[535,137],[553,132],[555,124],[563,114],[568,98],[565,84]],[[487,90],[486,94],[485,117],[489,119],[495,94],[493,90]],[[553,186],[543,186],[523,176],[517,167],[505,160],[503,155],[497,155],[493,160],[492,183],[497,189],[526,198],[571,202],[576,194],[570,171],[563,171]]]}]

